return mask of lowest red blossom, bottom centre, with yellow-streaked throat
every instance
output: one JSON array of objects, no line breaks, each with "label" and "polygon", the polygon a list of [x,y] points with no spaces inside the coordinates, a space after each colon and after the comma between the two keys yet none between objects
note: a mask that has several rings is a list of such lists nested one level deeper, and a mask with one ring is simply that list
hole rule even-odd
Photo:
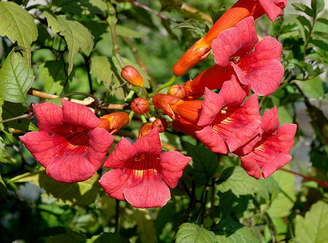
[{"label": "lowest red blossom, bottom centre, with yellow-streaked throat", "polygon": [[191,161],[177,151],[161,153],[158,129],[139,138],[133,145],[125,138],[115,146],[104,166],[112,168],[99,183],[111,197],[126,200],[133,207],[162,207],[171,198]]}]

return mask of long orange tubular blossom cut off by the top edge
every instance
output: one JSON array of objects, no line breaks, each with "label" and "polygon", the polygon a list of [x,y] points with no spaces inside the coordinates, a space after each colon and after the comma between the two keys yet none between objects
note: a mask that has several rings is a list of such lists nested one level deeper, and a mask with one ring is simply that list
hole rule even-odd
[{"label": "long orange tubular blossom cut off by the top edge", "polygon": [[212,26],[204,38],[189,48],[173,66],[177,76],[183,76],[197,63],[205,60],[210,54],[212,42],[222,31],[234,27],[245,18],[257,19],[267,14],[271,21],[282,15],[287,0],[239,0]]}]

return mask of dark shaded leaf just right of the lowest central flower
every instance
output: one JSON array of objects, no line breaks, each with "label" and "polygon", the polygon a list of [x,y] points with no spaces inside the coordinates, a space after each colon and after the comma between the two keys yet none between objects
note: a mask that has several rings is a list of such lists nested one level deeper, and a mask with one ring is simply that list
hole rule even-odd
[{"label": "dark shaded leaf just right of the lowest central flower", "polygon": [[218,168],[217,155],[207,147],[194,146],[183,142],[187,155],[192,157],[192,177],[199,185],[207,183]]}]

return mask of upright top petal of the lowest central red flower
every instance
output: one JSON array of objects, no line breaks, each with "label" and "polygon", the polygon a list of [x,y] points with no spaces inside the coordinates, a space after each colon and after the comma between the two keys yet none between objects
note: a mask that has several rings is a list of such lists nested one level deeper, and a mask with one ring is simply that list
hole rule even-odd
[{"label": "upright top petal of the lowest central red flower", "polygon": [[151,129],[149,134],[135,141],[133,148],[138,154],[151,154],[158,157],[161,153],[158,129]]}]

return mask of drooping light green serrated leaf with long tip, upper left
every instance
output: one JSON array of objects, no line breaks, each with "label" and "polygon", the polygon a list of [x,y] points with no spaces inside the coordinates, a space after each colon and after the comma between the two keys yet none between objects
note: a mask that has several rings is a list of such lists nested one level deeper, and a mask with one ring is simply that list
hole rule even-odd
[{"label": "drooping light green serrated leaf with long tip, upper left", "polygon": [[42,16],[47,18],[48,27],[52,29],[54,34],[59,33],[65,38],[68,47],[68,75],[70,75],[73,69],[74,57],[79,49],[84,52],[87,50],[88,53],[91,52],[93,36],[85,26],[65,15],[55,16],[45,11]]}]

